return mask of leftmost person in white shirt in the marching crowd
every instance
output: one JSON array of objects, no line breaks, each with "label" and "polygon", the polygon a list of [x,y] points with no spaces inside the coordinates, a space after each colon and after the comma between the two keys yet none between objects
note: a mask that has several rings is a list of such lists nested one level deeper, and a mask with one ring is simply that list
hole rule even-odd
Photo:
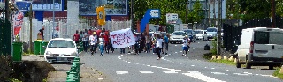
[{"label": "leftmost person in white shirt in the marching crowd", "polygon": [[94,53],[96,53],[96,46],[97,46],[96,44],[97,44],[97,35],[96,32],[94,32],[93,35],[89,36],[89,45],[92,56],[94,55]]}]

